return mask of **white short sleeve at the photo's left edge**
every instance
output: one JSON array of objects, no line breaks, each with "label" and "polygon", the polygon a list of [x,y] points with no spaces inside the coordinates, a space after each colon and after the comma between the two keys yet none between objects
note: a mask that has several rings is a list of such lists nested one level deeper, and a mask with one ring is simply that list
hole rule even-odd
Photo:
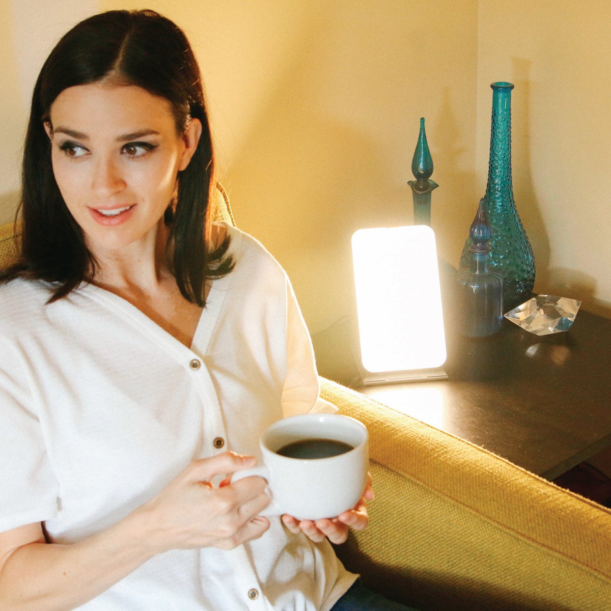
[{"label": "white short sleeve at the photo's left edge", "polygon": [[[4,346],[2,359],[7,352]],[[26,374],[17,369],[16,360],[0,362],[0,532],[57,515],[57,480]]]}]

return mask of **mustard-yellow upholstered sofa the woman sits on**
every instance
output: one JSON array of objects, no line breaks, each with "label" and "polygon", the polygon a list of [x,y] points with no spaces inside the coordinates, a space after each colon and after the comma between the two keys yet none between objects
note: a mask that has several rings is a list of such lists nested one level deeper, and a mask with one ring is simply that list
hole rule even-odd
[{"label": "mustard-yellow upholstered sofa the woman sits on", "polygon": [[[217,218],[233,222],[219,191]],[[0,266],[13,260],[0,232]],[[337,552],[371,587],[420,609],[611,610],[611,511],[321,379],[367,425],[371,524]]]}]

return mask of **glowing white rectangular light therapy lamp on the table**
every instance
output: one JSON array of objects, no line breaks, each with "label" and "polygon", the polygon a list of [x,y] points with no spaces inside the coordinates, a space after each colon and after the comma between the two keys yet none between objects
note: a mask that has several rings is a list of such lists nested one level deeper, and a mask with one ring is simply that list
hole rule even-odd
[{"label": "glowing white rectangular light therapy lamp on the table", "polygon": [[433,230],[359,229],[352,251],[364,382],[447,377]]}]

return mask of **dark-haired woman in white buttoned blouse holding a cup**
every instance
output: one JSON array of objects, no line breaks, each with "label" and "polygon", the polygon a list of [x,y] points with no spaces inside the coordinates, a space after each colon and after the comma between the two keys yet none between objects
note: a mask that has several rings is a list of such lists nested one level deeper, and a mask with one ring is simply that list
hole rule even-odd
[{"label": "dark-haired woman in white buttoned blouse holding a cup", "polygon": [[175,24],[112,11],[60,40],[0,276],[2,609],[403,608],[353,606],[329,544],[367,525],[370,488],[313,523],[258,516],[261,478],[229,484],[271,422],[333,408],[284,272],[210,223],[215,184]]}]

